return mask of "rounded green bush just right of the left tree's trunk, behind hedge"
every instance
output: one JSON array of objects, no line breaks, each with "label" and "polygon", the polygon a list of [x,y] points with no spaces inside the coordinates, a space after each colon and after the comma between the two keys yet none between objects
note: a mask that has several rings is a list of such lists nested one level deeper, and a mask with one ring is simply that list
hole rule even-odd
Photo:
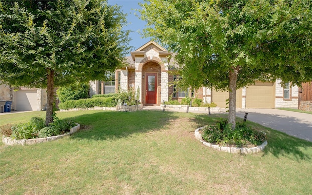
[{"label": "rounded green bush just right of the left tree's trunk, behind hedge", "polygon": [[59,87],[57,95],[60,102],[89,98],[89,84],[74,83],[67,87]]}]

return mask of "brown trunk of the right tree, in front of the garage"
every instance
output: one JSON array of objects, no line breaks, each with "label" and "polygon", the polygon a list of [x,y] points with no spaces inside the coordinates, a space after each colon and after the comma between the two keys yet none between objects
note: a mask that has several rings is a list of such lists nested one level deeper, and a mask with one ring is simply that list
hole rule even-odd
[{"label": "brown trunk of the right tree, in front of the garage", "polygon": [[238,71],[234,68],[230,71],[229,78],[229,116],[228,123],[231,124],[232,130],[236,125],[236,82]]}]

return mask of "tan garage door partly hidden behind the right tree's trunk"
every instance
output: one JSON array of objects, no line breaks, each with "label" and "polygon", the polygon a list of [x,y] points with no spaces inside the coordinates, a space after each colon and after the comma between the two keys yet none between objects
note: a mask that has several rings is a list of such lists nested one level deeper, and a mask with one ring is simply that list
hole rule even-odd
[{"label": "tan garage door partly hidden behind the right tree's trunk", "polygon": [[[226,99],[229,98],[229,92],[220,92],[220,91],[212,91],[212,102],[215,102],[215,104],[220,108],[225,108],[228,105],[226,105]],[[242,107],[242,89],[236,90],[236,108]]]}]

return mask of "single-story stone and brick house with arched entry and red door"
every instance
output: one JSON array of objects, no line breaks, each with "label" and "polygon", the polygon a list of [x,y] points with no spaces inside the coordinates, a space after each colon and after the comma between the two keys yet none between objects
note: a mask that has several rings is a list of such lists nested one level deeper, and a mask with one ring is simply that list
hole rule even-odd
[{"label": "single-story stone and brick house with arched entry and red door", "polygon": [[[160,105],[163,101],[181,101],[190,95],[169,85],[177,76],[171,73],[168,56],[173,53],[154,41],[149,41],[127,57],[129,65],[111,74],[109,81],[90,82],[90,94],[117,93],[118,90],[139,90],[140,101],[145,106]],[[256,82],[254,85],[238,89],[237,108],[298,108],[298,87],[289,83],[283,88],[281,80],[275,82]],[[215,102],[218,107],[226,107],[228,92],[215,91],[202,87],[192,93],[193,97],[205,103]]]}]

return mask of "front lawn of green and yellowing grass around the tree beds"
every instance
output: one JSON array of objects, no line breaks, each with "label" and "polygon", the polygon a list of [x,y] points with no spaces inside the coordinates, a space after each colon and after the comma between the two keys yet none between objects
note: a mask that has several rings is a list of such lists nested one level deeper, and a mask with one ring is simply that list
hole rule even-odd
[{"label": "front lawn of green and yellowing grass around the tree beds", "polygon": [[[0,117],[0,124],[43,116]],[[71,137],[0,145],[0,194],[311,194],[312,143],[267,133],[263,153],[235,155],[197,141],[196,128],[225,115],[161,111],[58,113],[83,127]],[[241,120],[241,119],[239,119]]]}]

